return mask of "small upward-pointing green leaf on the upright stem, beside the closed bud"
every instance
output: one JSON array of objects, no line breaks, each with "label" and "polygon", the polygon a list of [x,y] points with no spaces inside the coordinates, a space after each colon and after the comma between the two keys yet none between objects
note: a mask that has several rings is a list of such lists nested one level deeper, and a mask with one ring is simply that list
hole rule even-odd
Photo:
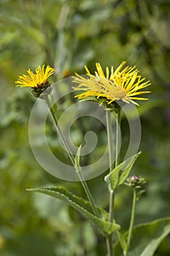
[{"label": "small upward-pointing green leaf on the upright stem, beside the closed bud", "polygon": [[115,169],[112,170],[112,172],[110,172],[109,174],[107,174],[107,176],[105,176],[104,181],[106,181],[107,184],[109,185],[109,189],[115,190],[117,186],[120,186],[121,184],[123,184],[123,182],[125,181],[125,178],[128,177],[128,174],[130,173],[131,168],[134,165],[134,162],[136,161],[136,159],[139,157],[141,153],[142,152],[140,151],[138,154],[135,154],[133,157],[129,157],[127,160],[125,160],[120,165],[115,167]]}]

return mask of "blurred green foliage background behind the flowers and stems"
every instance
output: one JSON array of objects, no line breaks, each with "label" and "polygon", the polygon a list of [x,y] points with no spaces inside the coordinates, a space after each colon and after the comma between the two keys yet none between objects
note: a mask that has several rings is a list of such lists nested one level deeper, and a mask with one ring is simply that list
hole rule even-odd
[{"label": "blurred green foliage background behind the flowers and stems", "polygon": [[[15,87],[18,75],[39,64],[58,70],[55,81],[87,64],[102,67],[136,65],[152,82],[150,100],[142,102],[143,151],[133,173],[147,179],[147,192],[138,203],[136,223],[170,216],[170,2],[169,0],[1,0],[0,1],[0,255],[2,256],[103,256],[105,241],[76,211],[26,188],[60,184],[85,197],[79,183],[50,176],[34,159],[28,140],[28,120],[35,99],[29,89]],[[72,105],[63,99],[63,108]],[[83,138],[90,121],[75,125]],[[88,125],[87,125],[88,124]],[[123,119],[124,145],[128,122]],[[49,141],[55,132],[47,123]],[[98,124],[100,154],[107,133]],[[53,150],[65,157],[58,143]],[[58,153],[59,152],[59,153]],[[93,158],[93,154],[92,154]],[[90,161],[89,157],[89,161]],[[88,181],[99,206],[107,208],[104,175]],[[117,222],[128,227],[131,192],[120,187],[116,197]],[[98,236],[96,236],[96,233]],[[155,252],[170,255],[167,237]]]}]

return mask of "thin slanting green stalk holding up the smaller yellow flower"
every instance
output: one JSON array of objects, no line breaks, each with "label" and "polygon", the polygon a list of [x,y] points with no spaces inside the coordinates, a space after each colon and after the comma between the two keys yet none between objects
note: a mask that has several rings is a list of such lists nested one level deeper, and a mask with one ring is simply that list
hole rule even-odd
[{"label": "thin slanting green stalk holding up the smaller yellow flower", "polygon": [[69,148],[69,144],[68,144],[67,141],[65,140],[65,138],[64,138],[64,136],[63,136],[63,132],[61,131],[60,126],[58,125],[58,118],[57,118],[56,115],[55,115],[55,110],[54,110],[53,106],[51,105],[50,99],[49,99],[48,96],[45,97],[45,102],[47,103],[47,106],[48,106],[48,108],[49,108],[49,110],[50,110],[51,116],[53,117],[53,122],[54,122],[54,124],[55,124],[55,128],[58,130],[58,134],[59,134],[60,137],[61,137],[61,140],[62,140],[62,142],[63,142],[63,146],[66,148],[66,151],[67,151],[67,153],[69,154],[69,158],[70,158],[70,160],[71,160],[71,162],[72,162],[72,165],[74,166],[74,168],[75,168],[75,170],[76,170],[77,176],[79,177],[80,182],[81,182],[81,184],[82,184],[82,187],[83,187],[83,189],[85,190],[85,194],[87,195],[88,200],[89,200],[89,202],[90,202],[90,204],[91,204],[91,206],[92,206],[92,208],[93,208],[93,213],[96,215],[96,217],[99,218],[98,210],[97,210],[96,205],[95,205],[95,203],[94,203],[93,197],[92,197],[92,195],[91,195],[91,193],[90,193],[90,190],[89,190],[89,188],[88,188],[88,185],[87,185],[87,183],[85,182],[85,180],[84,180],[84,178],[83,178],[83,176],[82,176],[81,170],[80,170],[80,169],[77,170],[77,167],[75,166],[75,159],[74,159],[74,156],[73,156],[72,153],[70,153],[70,152],[71,152],[71,149]]}]

